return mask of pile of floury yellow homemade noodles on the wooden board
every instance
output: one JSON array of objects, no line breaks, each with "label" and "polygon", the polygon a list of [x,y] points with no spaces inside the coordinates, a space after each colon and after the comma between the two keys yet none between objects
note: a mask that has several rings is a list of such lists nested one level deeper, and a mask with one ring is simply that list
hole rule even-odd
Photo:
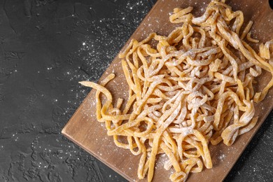
[{"label": "pile of floury yellow homemade noodles on the wooden board", "polygon": [[104,87],[113,73],[100,84],[80,82],[97,90],[97,120],[105,123],[116,146],[141,155],[139,179],[153,179],[160,154],[167,155],[165,169],[174,169],[172,181],[186,181],[203,166],[210,169],[209,143],[230,146],[251,130],[258,120],[253,103],[262,101],[273,85],[271,79],[260,92],[253,89],[262,69],[273,74],[273,40],[255,52],[248,45],[258,43],[251,38],[253,22],[241,29],[243,13],[224,1],[211,1],[197,18],[192,10],[174,8],[169,20],[179,27],[172,33],[132,39],[120,53],[129,85],[124,109],[123,99],[114,107]]}]

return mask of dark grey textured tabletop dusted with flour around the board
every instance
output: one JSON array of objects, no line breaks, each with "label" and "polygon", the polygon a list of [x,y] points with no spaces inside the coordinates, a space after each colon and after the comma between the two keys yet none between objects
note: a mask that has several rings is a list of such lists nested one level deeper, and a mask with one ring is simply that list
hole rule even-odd
[{"label": "dark grey textured tabletop dusted with flour around the board", "polygon": [[[125,181],[61,130],[155,1],[0,1],[0,181]],[[273,113],[226,181],[272,181]]]}]

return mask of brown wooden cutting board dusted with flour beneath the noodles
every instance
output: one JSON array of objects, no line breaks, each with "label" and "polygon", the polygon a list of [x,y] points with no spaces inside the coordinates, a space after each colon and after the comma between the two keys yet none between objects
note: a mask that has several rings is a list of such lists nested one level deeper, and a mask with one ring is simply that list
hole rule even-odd
[{"label": "brown wooden cutting board dusted with flour beneath the noodles", "polygon": [[[179,25],[172,25],[169,22],[169,13],[176,7],[186,8],[194,7],[194,15],[202,15],[209,1],[176,1],[176,0],[159,0],[152,10],[146,15],[141,25],[134,31],[131,38],[138,41],[145,38],[149,33],[155,31],[158,34],[167,35],[169,32]],[[254,38],[258,38],[261,42],[268,41],[273,38],[273,10],[269,8],[268,0],[248,0],[248,1],[228,1],[233,10],[242,10],[245,16],[245,22],[253,20],[252,34]],[[126,45],[130,42],[127,41]],[[114,101],[121,97],[127,98],[127,83],[123,76],[121,62],[118,57],[104,72],[102,79],[109,73],[115,73],[116,78],[106,87],[113,94]],[[264,87],[271,78],[270,73],[262,73],[258,80],[256,88],[258,90]],[[79,80],[80,81],[80,80]],[[104,124],[98,123],[95,116],[95,90],[87,95],[83,104],[80,105],[76,113],[69,120],[69,123],[62,130],[62,134],[69,138],[88,153],[98,158],[121,176],[129,181],[139,181],[137,178],[137,166],[140,156],[135,156],[130,151],[118,148],[113,143],[113,138],[106,135]],[[258,124],[251,130],[239,137],[235,144],[228,147],[224,144],[218,146],[209,146],[211,158],[214,167],[212,169],[204,169],[198,174],[190,174],[188,181],[223,181],[232,166],[244,151],[244,148],[251,141],[255,132],[262,125],[273,107],[273,89],[269,91],[263,102],[255,104],[255,115],[259,116]],[[168,181],[171,171],[163,168],[166,159],[160,157],[155,167],[155,175],[153,181]]]}]

